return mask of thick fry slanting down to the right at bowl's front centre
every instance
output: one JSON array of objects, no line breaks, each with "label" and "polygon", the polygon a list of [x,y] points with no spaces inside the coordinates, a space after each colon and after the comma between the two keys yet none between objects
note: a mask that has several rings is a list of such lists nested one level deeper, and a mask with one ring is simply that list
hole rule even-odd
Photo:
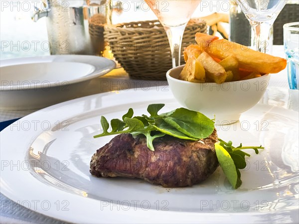
[{"label": "thick fry slanting down to the right at bowl's front centre", "polygon": [[225,69],[215,62],[208,53],[202,52],[197,60],[203,65],[207,78],[218,84],[224,83],[226,79]]}]

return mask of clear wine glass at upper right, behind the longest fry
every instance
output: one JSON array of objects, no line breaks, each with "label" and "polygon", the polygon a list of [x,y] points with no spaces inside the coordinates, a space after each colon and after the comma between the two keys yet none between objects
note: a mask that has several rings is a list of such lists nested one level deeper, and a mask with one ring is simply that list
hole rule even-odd
[{"label": "clear wine glass at upper right, behind the longest fry", "polygon": [[241,10],[254,30],[252,46],[257,51],[271,53],[273,45],[272,26],[288,0],[238,0]]}]

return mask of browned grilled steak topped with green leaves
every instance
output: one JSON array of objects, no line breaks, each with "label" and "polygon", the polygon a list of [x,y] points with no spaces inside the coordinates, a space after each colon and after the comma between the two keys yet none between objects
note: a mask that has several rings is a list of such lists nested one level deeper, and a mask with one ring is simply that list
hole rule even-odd
[{"label": "browned grilled steak topped with green leaves", "polygon": [[92,156],[90,173],[97,177],[141,178],[163,187],[192,186],[218,167],[216,141],[216,130],[199,141],[165,135],[153,141],[155,151],[150,151],[144,135],[120,134]]}]

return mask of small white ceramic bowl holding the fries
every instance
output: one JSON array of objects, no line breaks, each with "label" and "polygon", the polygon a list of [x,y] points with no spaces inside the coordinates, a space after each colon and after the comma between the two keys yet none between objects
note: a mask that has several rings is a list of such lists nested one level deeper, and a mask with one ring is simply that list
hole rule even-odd
[{"label": "small white ceramic bowl holding the fries", "polygon": [[239,120],[242,112],[255,106],[267,91],[270,75],[216,83],[192,83],[178,79],[184,65],[170,69],[166,78],[174,98],[185,108],[216,119],[216,124]]}]

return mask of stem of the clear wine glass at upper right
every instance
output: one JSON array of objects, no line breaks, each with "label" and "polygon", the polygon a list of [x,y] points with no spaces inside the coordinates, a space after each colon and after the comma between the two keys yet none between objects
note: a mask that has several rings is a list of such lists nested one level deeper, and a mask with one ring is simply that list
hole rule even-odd
[{"label": "stem of the clear wine glass at upper right", "polygon": [[256,50],[271,54],[273,46],[273,22],[251,22],[255,37],[252,46],[256,46]]}]

